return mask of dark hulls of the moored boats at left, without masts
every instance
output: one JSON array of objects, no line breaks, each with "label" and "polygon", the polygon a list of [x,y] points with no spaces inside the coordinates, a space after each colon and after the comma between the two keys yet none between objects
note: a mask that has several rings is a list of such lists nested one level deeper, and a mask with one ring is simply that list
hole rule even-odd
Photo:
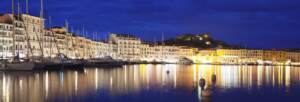
[{"label": "dark hulls of the moored boats at left, without masts", "polygon": [[4,71],[31,71],[31,70],[61,70],[83,69],[84,67],[121,67],[123,64],[113,59],[42,59],[1,61],[0,70]]}]

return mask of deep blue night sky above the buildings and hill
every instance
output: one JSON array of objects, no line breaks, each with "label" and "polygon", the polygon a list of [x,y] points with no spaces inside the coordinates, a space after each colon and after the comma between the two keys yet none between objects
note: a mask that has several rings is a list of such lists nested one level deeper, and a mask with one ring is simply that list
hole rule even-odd
[{"label": "deep blue night sky above the buildings and hill", "polygon": [[[18,0],[16,0],[18,1]],[[23,3],[25,11],[25,0]],[[29,0],[39,15],[39,0]],[[300,48],[299,0],[44,0],[45,17],[73,29],[84,25],[102,39],[108,32],[160,40],[182,33],[211,32],[218,40],[252,48]],[[0,1],[0,13],[11,0]],[[47,19],[47,18],[46,18]],[[90,37],[92,35],[90,34]]]}]

